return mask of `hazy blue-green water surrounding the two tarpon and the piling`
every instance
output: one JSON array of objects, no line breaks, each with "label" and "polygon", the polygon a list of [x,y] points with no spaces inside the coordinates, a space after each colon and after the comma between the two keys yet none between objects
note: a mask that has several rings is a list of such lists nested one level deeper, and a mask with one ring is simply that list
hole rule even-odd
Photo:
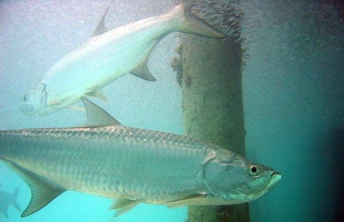
[{"label": "hazy blue-green water surrounding the two tarpon and the piling", "polygon": [[[210,1],[207,1],[210,2]],[[214,5],[219,2],[213,1]],[[227,1],[242,15],[246,156],[283,174],[250,203],[251,221],[339,221],[343,209],[344,6],[342,1]],[[22,97],[58,59],[92,35],[109,6],[109,28],[161,14],[176,1],[0,1],[0,129],[68,127],[85,113],[31,117]],[[148,67],[156,82],[124,75],[93,100],[123,125],[184,134],[182,93],[170,61],[178,34],[164,37]],[[206,61],[205,61],[206,62]],[[80,76],[82,78],[82,76]],[[81,103],[77,104],[82,106]],[[0,189],[30,191],[0,163]],[[139,204],[113,218],[110,199],[68,191],[31,216],[10,206],[0,221],[184,221],[186,207]]]}]

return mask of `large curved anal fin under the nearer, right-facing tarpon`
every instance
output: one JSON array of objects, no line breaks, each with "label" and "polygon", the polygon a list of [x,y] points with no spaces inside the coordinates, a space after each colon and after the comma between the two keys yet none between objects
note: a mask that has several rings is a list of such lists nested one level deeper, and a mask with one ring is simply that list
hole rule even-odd
[{"label": "large curved anal fin under the nearer, right-facing tarpon", "polygon": [[31,189],[30,203],[21,214],[21,217],[29,216],[39,211],[65,191],[12,161],[4,161],[12,170],[19,174]]}]

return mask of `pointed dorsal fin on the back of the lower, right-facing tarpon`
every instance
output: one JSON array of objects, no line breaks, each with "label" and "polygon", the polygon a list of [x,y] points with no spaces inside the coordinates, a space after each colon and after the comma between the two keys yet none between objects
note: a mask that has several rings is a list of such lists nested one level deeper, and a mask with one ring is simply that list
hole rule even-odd
[{"label": "pointed dorsal fin on the back of the lower, right-facing tarpon", "polygon": [[84,97],[82,97],[81,100],[86,108],[87,126],[121,125],[121,123],[119,123],[116,119],[110,116],[110,114],[96,104]]}]

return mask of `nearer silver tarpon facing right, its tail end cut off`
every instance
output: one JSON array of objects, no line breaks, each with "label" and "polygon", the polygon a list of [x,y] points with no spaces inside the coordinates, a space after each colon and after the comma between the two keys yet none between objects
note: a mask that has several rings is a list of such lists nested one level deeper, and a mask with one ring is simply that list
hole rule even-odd
[{"label": "nearer silver tarpon facing right, its tail end cut off", "polygon": [[229,150],[121,125],[82,98],[83,127],[0,130],[0,160],[31,189],[28,216],[66,190],[114,199],[119,215],[140,202],[224,205],[252,201],[281,174]]}]

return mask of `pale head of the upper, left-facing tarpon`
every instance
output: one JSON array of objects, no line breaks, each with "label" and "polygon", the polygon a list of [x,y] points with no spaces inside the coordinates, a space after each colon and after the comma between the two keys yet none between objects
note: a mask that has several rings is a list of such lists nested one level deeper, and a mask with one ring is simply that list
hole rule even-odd
[{"label": "pale head of the upper, left-facing tarpon", "polygon": [[30,116],[43,115],[45,114],[46,103],[46,85],[39,82],[23,97],[20,109]]}]

